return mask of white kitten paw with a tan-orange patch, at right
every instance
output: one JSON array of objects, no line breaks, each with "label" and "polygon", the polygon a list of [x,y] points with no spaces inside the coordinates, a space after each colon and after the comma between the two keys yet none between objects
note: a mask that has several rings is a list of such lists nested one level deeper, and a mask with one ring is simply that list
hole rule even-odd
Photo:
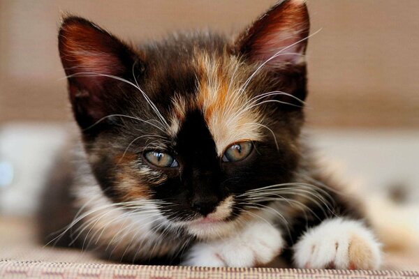
[{"label": "white kitten paw with a tan-orange patch, at right", "polygon": [[378,269],[381,244],[360,221],[333,218],[309,229],[294,246],[297,267]]}]

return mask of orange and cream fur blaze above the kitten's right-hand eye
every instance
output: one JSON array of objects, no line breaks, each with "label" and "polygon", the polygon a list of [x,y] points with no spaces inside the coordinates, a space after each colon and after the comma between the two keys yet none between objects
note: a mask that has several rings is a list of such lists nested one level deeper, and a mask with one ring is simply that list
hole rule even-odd
[{"label": "orange and cream fur blaze above the kitten's right-hand eye", "polygon": [[242,91],[248,75],[234,56],[197,54],[200,73],[196,104],[203,112],[219,156],[240,140],[261,140],[260,120],[251,97]]}]

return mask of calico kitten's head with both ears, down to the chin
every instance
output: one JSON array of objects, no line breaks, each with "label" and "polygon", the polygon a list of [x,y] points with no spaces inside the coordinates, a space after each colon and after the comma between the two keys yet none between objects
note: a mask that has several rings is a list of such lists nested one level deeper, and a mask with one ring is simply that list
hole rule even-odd
[{"label": "calico kitten's head with both ears, down to the chin", "polygon": [[298,164],[308,30],[302,1],[236,40],[178,34],[138,49],[67,17],[61,61],[103,193],[154,204],[200,237],[263,206],[247,193],[291,181]]}]

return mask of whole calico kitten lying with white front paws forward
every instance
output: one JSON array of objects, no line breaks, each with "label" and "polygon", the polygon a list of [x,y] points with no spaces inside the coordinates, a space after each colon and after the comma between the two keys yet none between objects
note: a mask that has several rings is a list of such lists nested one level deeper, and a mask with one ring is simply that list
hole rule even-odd
[{"label": "whole calico kitten lying with white front paws forward", "polygon": [[64,18],[83,148],[47,190],[43,233],[61,229],[48,240],[141,264],[377,269],[360,205],[300,136],[308,36],[300,0],[234,40],[176,33],[133,47]]}]

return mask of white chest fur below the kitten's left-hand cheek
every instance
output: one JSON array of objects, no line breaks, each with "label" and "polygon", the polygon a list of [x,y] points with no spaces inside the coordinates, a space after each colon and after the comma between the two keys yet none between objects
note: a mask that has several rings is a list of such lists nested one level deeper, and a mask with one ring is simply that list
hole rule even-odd
[{"label": "white chest fur below the kitten's left-hand cheek", "polygon": [[[118,203],[105,197],[103,190],[89,174],[89,166],[82,164],[74,195],[80,207],[78,216],[69,227],[80,225],[75,238],[94,246],[103,246],[110,255],[126,255],[134,259],[175,255],[183,245],[170,241],[156,232],[154,225],[168,224],[153,200]],[[126,209],[130,210],[124,210]],[[135,213],[133,213],[135,211]]]}]

